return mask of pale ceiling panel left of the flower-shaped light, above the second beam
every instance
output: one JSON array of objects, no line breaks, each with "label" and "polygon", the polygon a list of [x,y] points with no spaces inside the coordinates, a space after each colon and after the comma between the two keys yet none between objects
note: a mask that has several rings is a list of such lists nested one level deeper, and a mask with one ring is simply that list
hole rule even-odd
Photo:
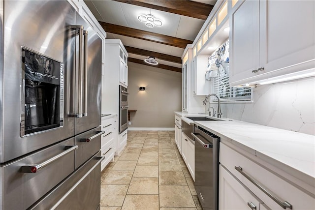
[{"label": "pale ceiling panel left of the flower-shaped light, above the second beam", "polygon": [[120,2],[113,0],[94,0],[93,3],[103,19],[100,21],[120,26],[128,26]]}]

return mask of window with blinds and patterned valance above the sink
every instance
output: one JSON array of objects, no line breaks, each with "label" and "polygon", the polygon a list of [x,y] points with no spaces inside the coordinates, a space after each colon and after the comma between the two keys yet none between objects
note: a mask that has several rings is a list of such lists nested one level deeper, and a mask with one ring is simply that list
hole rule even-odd
[{"label": "window with blinds and patterned valance above the sink", "polygon": [[[234,88],[229,85],[229,42],[225,42],[209,57],[210,71],[213,72],[213,90],[222,101],[251,100],[252,88]],[[216,100],[216,99],[215,99]]]}]

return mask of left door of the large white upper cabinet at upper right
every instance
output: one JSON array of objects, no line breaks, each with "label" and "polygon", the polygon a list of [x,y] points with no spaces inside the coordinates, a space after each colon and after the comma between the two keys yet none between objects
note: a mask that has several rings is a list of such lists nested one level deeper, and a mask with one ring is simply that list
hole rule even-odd
[{"label": "left door of the large white upper cabinet at upper right", "polygon": [[255,76],[259,66],[259,1],[246,0],[230,18],[230,83]]}]

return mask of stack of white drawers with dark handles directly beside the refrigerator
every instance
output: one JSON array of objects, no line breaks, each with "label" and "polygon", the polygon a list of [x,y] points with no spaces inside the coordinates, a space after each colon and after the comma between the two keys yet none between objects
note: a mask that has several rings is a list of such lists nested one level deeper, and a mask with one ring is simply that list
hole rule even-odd
[{"label": "stack of white drawers with dark handles directly beside the refrigerator", "polygon": [[105,159],[101,162],[101,171],[109,162],[114,160],[117,142],[116,118],[116,115],[112,115],[109,117],[103,117],[101,120],[101,129],[105,131],[105,133],[101,136],[101,154],[105,157]]}]

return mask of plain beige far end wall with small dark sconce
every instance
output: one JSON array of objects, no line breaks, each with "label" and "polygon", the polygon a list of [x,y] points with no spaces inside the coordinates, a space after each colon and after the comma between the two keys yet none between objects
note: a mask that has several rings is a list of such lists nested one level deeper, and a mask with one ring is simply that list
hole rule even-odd
[{"label": "plain beige far end wall with small dark sconce", "polygon": [[[145,87],[145,91],[139,91]],[[128,127],[172,127],[182,110],[182,73],[128,62]]]}]

